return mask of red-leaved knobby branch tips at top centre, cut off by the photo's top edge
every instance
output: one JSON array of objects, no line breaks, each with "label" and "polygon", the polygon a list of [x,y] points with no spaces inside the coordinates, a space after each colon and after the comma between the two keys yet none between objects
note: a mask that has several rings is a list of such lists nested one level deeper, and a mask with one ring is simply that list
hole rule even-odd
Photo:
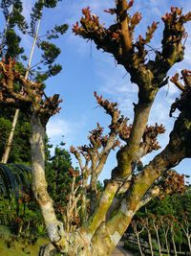
[{"label": "red-leaved knobby branch tips at top centre, cut off by the photo's top edge", "polygon": [[[104,12],[117,14],[117,23],[110,26],[108,29],[103,28],[103,24],[100,25],[96,15],[91,16],[89,7],[87,9],[82,9],[84,16],[82,16],[80,19],[81,26],[79,26],[79,23],[76,22],[73,32],[75,35],[81,35],[84,38],[94,39],[98,49],[103,48],[104,51],[111,52],[114,55],[117,54],[117,56],[119,55],[123,58],[129,58],[129,52],[134,52],[134,47],[136,46],[138,48],[139,58],[144,57],[147,53],[146,51],[143,53],[144,45],[150,42],[155,30],[157,29],[158,23],[153,22],[152,26],[148,27],[146,39],[143,39],[143,37],[140,35],[139,41],[137,40],[137,42],[134,44],[133,33],[135,27],[141,20],[141,15],[140,12],[135,12],[133,16],[129,15],[128,11],[131,9],[133,4],[134,1],[130,1],[127,4],[126,0],[117,0],[117,8],[109,9],[108,11],[104,10]],[[135,53],[135,55],[137,56],[137,53]]]}]

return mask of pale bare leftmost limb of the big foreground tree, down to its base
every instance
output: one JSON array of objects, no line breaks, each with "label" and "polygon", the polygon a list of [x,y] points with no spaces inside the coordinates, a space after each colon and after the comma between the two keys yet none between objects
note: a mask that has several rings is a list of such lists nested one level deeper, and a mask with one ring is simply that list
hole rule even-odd
[{"label": "pale bare leftmost limb of the big foreground tree, down to its base", "polygon": [[[37,116],[32,114],[32,191],[36,199],[41,214],[43,216],[47,234],[51,243],[58,251],[68,256],[97,256],[91,246],[91,235],[83,227],[77,232],[66,232],[63,229],[63,223],[56,220],[53,210],[53,200],[47,192],[47,182],[45,179],[45,153],[44,153],[44,137],[45,128]],[[53,246],[52,246],[53,247]],[[52,255],[49,246],[41,249],[39,255]]]}]

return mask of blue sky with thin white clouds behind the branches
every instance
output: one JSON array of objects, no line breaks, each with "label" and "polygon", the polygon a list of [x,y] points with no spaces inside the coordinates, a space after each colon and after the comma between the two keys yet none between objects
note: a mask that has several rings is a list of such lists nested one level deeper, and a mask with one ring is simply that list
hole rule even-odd
[{"label": "blue sky with thin white clouds behind the branches", "polygon": [[[33,2],[33,0],[23,0],[24,14],[27,17],[29,17]],[[130,118],[129,123],[133,117],[133,102],[138,101],[138,87],[131,83],[124,68],[116,66],[115,60],[110,54],[97,51],[94,43],[87,42],[72,33],[72,25],[80,19],[81,9],[87,6],[90,6],[91,11],[99,16],[100,22],[104,22],[105,26],[114,23],[115,16],[105,13],[103,10],[115,7],[115,0],[63,0],[55,9],[43,11],[39,32],[39,35],[44,35],[54,24],[68,23],[70,25],[68,32],[55,41],[62,51],[58,62],[62,64],[63,71],[46,82],[47,94],[59,93],[60,98],[63,99],[60,114],[56,114],[50,120],[47,133],[53,145],[58,145],[63,140],[67,149],[71,145],[76,147],[88,144],[88,132],[96,128],[97,122],[107,131],[110,117],[96,105],[94,91],[98,95],[102,95],[104,99],[117,102],[122,114]],[[144,35],[147,26],[151,25],[153,21],[159,21],[159,29],[151,42],[152,47],[159,48],[163,28],[160,17],[165,12],[170,12],[171,6],[183,7],[183,12],[191,11],[189,0],[135,0],[131,12],[142,13],[142,20],[136,30],[135,38],[138,35]],[[188,35],[191,35],[190,28],[191,22],[186,25]],[[191,69],[190,43],[191,39],[188,38],[185,59],[171,69],[170,76],[181,69]],[[23,45],[26,55],[29,56],[32,39],[24,37]],[[36,63],[38,57],[39,53],[35,49],[34,58],[32,58],[33,64]],[[149,58],[152,58],[152,54]],[[179,90],[169,82],[169,86],[166,85],[159,92],[151,110],[149,124],[154,125],[158,122],[166,128],[165,134],[159,137],[159,145],[162,146],[162,149],[168,142],[168,135],[175,121],[168,116],[169,107],[175,98],[179,97],[179,94]],[[62,135],[64,135],[64,139]],[[111,153],[108,163],[100,175],[100,180],[110,177],[111,170],[116,164],[115,154],[116,152]],[[148,163],[154,155],[155,153],[148,154],[143,162]],[[75,162],[74,160],[74,166]],[[176,168],[184,174],[189,174],[190,169],[189,159],[183,160]]]}]

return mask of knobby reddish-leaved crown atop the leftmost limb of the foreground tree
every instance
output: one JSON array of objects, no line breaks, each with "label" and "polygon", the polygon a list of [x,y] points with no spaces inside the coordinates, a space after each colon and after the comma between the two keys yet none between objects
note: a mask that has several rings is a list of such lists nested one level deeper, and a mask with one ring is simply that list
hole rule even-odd
[{"label": "knobby reddish-leaved crown atop the leftmost limb of the foreground tree", "polygon": [[[38,112],[42,124],[46,125],[49,118],[60,110],[58,104],[62,101],[58,101],[59,95],[55,94],[48,98],[43,91],[39,90],[40,83],[26,80],[13,69],[14,64],[15,61],[12,61],[11,58],[9,64],[5,63],[4,58],[0,61],[0,73],[3,77],[0,85],[0,104],[11,105],[20,108],[22,111],[28,111],[28,113],[35,110]],[[20,92],[16,92],[14,89],[15,81],[22,88]],[[45,100],[43,100],[43,96]],[[26,107],[26,105],[31,107]]]}]

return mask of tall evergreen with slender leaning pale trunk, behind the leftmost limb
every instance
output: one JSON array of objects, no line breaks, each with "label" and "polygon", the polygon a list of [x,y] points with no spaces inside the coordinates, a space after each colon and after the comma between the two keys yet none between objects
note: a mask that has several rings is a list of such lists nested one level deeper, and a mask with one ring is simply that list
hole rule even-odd
[{"label": "tall evergreen with slender leaning pale trunk, behind the leftmost limb", "polygon": [[[24,17],[20,14],[20,12],[22,12],[22,10],[23,10],[22,2],[19,0],[16,2],[12,2],[12,4],[10,1],[8,1],[8,3],[7,3],[7,1],[2,2],[1,6],[4,9],[5,17],[7,17],[8,6],[11,5],[11,7],[12,7],[12,5],[13,5],[13,7],[14,7],[12,15],[10,14],[8,16],[7,26],[6,26],[6,30],[5,30],[5,35],[7,33],[6,45],[8,48],[7,53],[6,53],[6,59],[18,57],[24,51],[23,48],[19,48],[20,37],[17,36],[14,33],[14,31],[12,30],[12,28],[16,24],[17,24],[18,28],[24,34],[28,33],[29,35],[31,35],[33,37],[32,51],[31,51],[31,55],[29,58],[26,72],[25,72],[26,80],[28,79],[30,72],[32,74],[35,72],[34,67],[39,66],[39,64],[42,64],[42,63],[44,65],[48,65],[48,70],[46,72],[41,72],[41,73],[39,71],[36,72],[36,75],[34,78],[35,81],[38,81],[41,83],[42,83],[42,81],[47,80],[49,77],[55,76],[62,69],[62,67],[59,64],[53,65],[55,58],[57,58],[57,56],[60,54],[60,49],[57,48],[53,43],[49,43],[48,41],[45,41],[45,40],[41,41],[38,36],[38,30],[39,30],[39,26],[40,26],[43,8],[44,7],[53,8],[56,6],[56,2],[57,1],[48,1],[47,2],[44,0],[38,0],[34,4],[34,7],[32,8],[32,13],[31,13],[31,31],[30,32],[27,31],[28,25],[27,25]],[[35,26],[36,23],[37,23],[37,26]],[[48,31],[47,35],[45,35],[45,36],[47,36],[48,39],[58,38],[58,34],[63,35],[67,31],[67,29],[68,29],[67,24],[63,24],[61,26],[55,25],[53,30],[51,32]],[[4,39],[4,37],[3,37],[3,39]],[[2,42],[3,42],[3,39],[2,39]],[[38,42],[37,46],[43,51],[43,54],[41,55],[41,60],[38,63],[36,63],[34,66],[31,66],[33,51],[34,51],[36,42]],[[38,68],[40,69],[40,67],[38,67]],[[20,89],[22,90],[22,88],[20,88]],[[14,117],[13,117],[13,121],[12,121],[11,132],[10,132],[10,135],[9,135],[6,147],[5,147],[5,152],[2,157],[2,162],[4,164],[6,164],[8,162],[8,158],[9,158],[10,151],[11,151],[12,139],[13,139],[14,131],[16,128],[18,116],[19,116],[19,109],[16,109]]]}]

